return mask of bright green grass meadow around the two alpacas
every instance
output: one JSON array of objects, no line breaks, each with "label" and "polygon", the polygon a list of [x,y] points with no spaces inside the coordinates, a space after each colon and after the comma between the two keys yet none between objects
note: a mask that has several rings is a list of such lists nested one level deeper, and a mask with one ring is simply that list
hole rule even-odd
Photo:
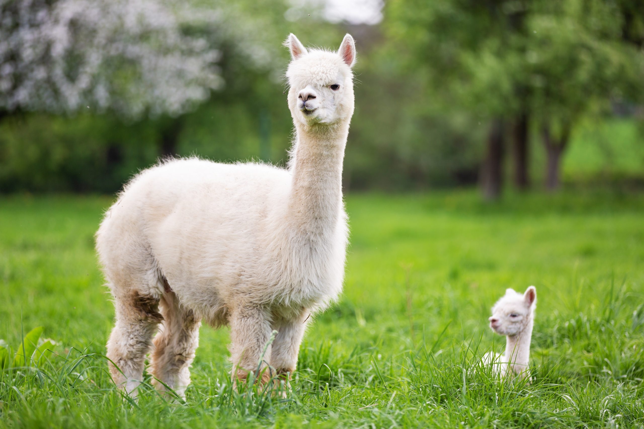
[{"label": "bright green grass meadow around the two alpacas", "polygon": [[[229,333],[202,327],[185,404],[124,401],[106,372],[93,233],[110,202],[0,199],[0,338],[15,350],[42,325],[57,342],[39,370],[0,374],[1,428],[644,426],[644,196],[350,195],[345,294],[289,398],[233,392]],[[489,308],[531,284],[535,382],[503,383],[477,365],[504,345]]]}]

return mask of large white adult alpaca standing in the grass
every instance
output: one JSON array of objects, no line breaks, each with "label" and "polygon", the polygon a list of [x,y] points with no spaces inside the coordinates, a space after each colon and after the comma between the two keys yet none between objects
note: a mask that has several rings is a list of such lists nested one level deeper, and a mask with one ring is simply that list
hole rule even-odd
[{"label": "large white adult alpaca standing in the grass", "polygon": [[261,365],[287,378],[308,316],[341,292],[354,39],[347,34],[337,53],[307,51],[292,34],[285,44],[296,131],[289,169],[170,160],[138,174],[105,214],[96,241],[116,307],[108,357],[126,392],[136,394],[158,331],[151,373],[183,396],[202,319],[231,326],[234,381],[257,369],[278,331]]}]

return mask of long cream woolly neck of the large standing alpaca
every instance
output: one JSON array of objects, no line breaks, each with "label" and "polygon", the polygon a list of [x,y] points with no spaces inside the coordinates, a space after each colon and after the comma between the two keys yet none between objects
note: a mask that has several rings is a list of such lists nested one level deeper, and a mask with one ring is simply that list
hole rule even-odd
[{"label": "long cream woolly neck of the large standing alpaca", "polygon": [[290,226],[319,235],[337,222],[342,205],[342,162],[348,123],[330,127],[296,125],[290,172]]}]

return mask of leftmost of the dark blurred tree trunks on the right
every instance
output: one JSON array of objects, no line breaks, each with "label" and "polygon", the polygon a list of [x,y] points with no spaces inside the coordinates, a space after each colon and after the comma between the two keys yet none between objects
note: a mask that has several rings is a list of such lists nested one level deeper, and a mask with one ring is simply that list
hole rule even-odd
[{"label": "leftmost of the dark blurred tree trunks on the right", "polygon": [[503,186],[504,131],[503,121],[493,120],[480,175],[483,196],[487,200],[498,199]]}]

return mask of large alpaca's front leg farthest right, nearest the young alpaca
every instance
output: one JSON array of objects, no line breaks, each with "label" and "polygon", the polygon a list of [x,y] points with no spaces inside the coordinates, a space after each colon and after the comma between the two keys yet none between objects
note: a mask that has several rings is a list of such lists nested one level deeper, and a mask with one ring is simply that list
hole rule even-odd
[{"label": "large alpaca's front leg farthest right, nearest the young alpaca", "polygon": [[308,315],[307,311],[298,318],[282,320],[274,325],[278,334],[272,344],[270,366],[276,370],[278,376],[287,380],[298,364],[299,345],[304,336]]}]

